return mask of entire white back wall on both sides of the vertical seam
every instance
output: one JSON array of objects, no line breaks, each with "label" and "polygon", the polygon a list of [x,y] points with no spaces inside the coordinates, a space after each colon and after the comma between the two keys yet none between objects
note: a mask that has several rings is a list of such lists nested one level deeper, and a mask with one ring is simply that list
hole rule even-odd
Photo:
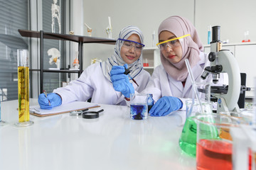
[{"label": "entire white back wall on both sides of the vertical seam", "polygon": [[[220,26],[220,39],[241,42],[249,30],[250,40],[256,40],[255,0],[84,0],[84,21],[92,28],[92,36],[107,38],[107,17],[112,21],[112,38],[128,25],[138,26],[144,33],[144,44],[152,46],[152,33],[165,18],[179,15],[195,24],[201,41],[207,44],[208,26]],[[194,10],[196,7],[196,10]],[[87,29],[84,30],[87,35]],[[90,59],[107,60],[114,45],[84,45],[84,68]]]}]

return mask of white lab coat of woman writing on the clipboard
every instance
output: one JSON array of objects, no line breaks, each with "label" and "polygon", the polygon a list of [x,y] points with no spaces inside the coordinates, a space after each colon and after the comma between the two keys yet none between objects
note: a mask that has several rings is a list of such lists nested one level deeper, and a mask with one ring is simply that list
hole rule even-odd
[{"label": "white lab coat of woman writing on the clipboard", "polygon": [[[141,92],[149,82],[150,74],[142,69],[142,72],[134,79],[139,86],[133,81],[130,82],[135,91]],[[90,65],[78,79],[70,81],[68,86],[55,89],[53,93],[61,96],[63,104],[73,101],[87,101],[92,98],[92,103],[127,105],[121,92],[115,91],[112,83],[102,73],[100,63]]]}]

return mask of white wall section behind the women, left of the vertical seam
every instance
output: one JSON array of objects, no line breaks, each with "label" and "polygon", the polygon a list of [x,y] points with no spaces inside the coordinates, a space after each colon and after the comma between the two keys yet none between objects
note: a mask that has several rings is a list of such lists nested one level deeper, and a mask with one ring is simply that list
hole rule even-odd
[{"label": "white wall section behind the women, left of the vertical seam", "polygon": [[[146,47],[152,46],[152,33],[165,18],[179,15],[188,18],[193,22],[192,0],[95,0],[84,1],[85,23],[92,28],[92,36],[107,38],[106,28],[108,26],[108,16],[112,22],[112,38],[117,39],[120,30],[128,25],[139,27],[144,33],[144,44]],[[85,28],[87,35],[87,28]],[[114,51],[114,45],[84,45],[84,61],[98,57],[107,60]],[[85,63],[84,68],[90,63]]]}]

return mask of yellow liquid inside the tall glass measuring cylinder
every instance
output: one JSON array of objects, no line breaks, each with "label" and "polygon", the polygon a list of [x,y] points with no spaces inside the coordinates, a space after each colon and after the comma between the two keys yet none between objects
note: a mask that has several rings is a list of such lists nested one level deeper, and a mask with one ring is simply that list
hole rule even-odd
[{"label": "yellow liquid inside the tall glass measuring cylinder", "polygon": [[29,70],[18,67],[18,122],[29,121]]}]

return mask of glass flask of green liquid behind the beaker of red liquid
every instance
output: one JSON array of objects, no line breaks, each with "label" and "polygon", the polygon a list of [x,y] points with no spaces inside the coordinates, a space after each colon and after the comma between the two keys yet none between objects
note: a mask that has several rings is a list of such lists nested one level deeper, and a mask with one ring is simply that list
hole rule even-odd
[{"label": "glass flask of green liquid behind the beaker of red liquid", "polygon": [[[203,113],[211,114],[212,113],[212,103],[201,101]],[[187,119],[183,126],[181,132],[181,137],[179,139],[179,146],[186,152],[186,154],[196,157],[196,123],[193,120],[195,115],[201,115],[201,106],[197,100],[189,99],[186,101],[186,115]]]}]

